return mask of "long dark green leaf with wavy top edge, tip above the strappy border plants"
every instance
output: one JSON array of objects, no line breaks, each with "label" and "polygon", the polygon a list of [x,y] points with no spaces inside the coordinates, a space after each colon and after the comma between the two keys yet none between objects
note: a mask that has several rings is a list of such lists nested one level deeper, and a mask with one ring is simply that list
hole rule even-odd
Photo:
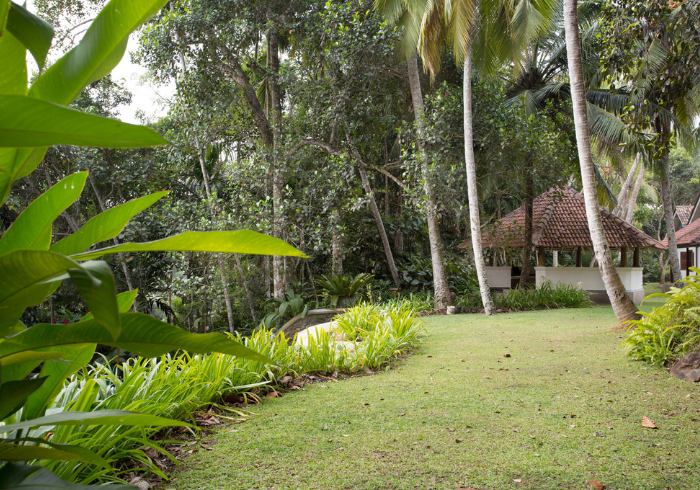
[{"label": "long dark green leaf with wavy top edge, tip above the strappy border plants", "polygon": [[40,323],[0,342],[0,359],[29,350],[75,344],[107,344],[144,356],[157,357],[184,349],[194,353],[220,352],[258,362],[267,357],[220,333],[193,334],[143,313],[122,315],[122,331],[116,341],[94,319],[70,325]]}]

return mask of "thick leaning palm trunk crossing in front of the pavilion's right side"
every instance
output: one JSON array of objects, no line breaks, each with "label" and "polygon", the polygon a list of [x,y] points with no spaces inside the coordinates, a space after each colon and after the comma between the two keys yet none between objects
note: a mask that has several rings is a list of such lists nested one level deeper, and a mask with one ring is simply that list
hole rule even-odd
[{"label": "thick leaning palm trunk crossing in front of the pavilion's right side", "polygon": [[612,261],[610,247],[605,238],[603,220],[596,192],[596,178],[593,171],[591,156],[591,137],[588,132],[588,114],[586,112],[586,87],[583,79],[583,63],[581,61],[581,42],[578,30],[578,12],[576,0],[564,0],[564,26],[566,31],[566,50],[569,64],[571,84],[571,100],[574,109],[574,124],[576,126],[576,143],[578,146],[579,163],[581,165],[581,180],[586,202],[586,217],[591,233],[593,250],[598,267],[605,283],[610,303],[620,324],[628,324],[639,317],[637,308],[627,295],[625,286],[617,274]]}]

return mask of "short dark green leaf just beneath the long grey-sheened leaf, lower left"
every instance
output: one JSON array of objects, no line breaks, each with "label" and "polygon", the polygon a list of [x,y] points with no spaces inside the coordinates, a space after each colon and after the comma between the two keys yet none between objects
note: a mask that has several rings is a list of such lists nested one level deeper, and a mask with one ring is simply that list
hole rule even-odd
[{"label": "short dark green leaf just beneath the long grey-sheened leaf, lower left", "polygon": [[[17,444],[20,442],[30,442],[33,445]],[[41,447],[40,445],[49,447]],[[58,444],[36,437],[0,439],[0,461],[31,461],[33,459],[76,460],[110,468],[109,462],[102,456],[73,444]]]}]

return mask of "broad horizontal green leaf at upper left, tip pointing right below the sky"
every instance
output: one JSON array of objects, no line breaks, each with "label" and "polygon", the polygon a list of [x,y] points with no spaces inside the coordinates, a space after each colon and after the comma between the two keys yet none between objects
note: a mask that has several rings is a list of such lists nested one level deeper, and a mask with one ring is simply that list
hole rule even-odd
[{"label": "broad horizontal green leaf at upper left, tip pointing right below the sky", "polygon": [[0,95],[0,148],[51,145],[132,148],[167,144],[144,126],[22,95]]}]

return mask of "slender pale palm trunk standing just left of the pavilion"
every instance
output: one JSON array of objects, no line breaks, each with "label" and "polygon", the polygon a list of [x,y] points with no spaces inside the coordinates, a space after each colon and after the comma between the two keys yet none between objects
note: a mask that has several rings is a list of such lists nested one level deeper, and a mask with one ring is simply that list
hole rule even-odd
[{"label": "slender pale palm trunk standing just left of the pavilion", "polygon": [[472,234],[472,249],[474,250],[474,267],[479,278],[479,290],[481,301],[484,304],[484,313],[493,315],[495,308],[488,278],[486,277],[486,263],[484,251],[481,248],[481,219],[479,217],[479,197],[476,188],[476,159],[474,158],[474,136],[472,129],[472,41],[467,41],[464,56],[464,161],[467,169],[467,190],[469,194],[469,225]]}]

